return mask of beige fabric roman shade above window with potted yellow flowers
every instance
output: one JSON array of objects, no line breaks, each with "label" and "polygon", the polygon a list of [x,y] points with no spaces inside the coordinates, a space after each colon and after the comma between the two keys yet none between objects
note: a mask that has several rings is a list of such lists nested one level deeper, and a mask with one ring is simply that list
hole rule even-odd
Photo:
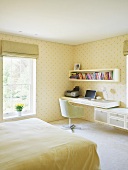
[{"label": "beige fabric roman shade above window with potted yellow flowers", "polygon": [[0,42],[2,56],[38,58],[38,45],[2,40]]}]

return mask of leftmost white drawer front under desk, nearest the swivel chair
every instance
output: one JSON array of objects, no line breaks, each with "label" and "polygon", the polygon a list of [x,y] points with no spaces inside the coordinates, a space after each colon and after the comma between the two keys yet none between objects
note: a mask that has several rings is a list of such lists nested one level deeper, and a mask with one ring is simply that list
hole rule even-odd
[{"label": "leftmost white drawer front under desk, nearest the swivel chair", "polygon": [[94,116],[95,116],[95,120],[107,123],[107,112],[103,112],[101,110],[95,110]]}]

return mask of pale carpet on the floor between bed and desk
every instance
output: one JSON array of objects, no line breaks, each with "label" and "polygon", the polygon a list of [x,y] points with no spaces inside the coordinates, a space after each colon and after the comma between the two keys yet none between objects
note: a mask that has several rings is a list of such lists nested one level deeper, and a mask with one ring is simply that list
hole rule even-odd
[{"label": "pale carpet on the floor between bed and desk", "polygon": [[[68,120],[51,122],[63,128]],[[97,144],[101,170],[128,170],[128,132],[111,126],[74,119],[72,123],[81,127],[74,133]],[[65,130],[65,129],[64,129]],[[67,130],[72,133],[71,130]]]}]

